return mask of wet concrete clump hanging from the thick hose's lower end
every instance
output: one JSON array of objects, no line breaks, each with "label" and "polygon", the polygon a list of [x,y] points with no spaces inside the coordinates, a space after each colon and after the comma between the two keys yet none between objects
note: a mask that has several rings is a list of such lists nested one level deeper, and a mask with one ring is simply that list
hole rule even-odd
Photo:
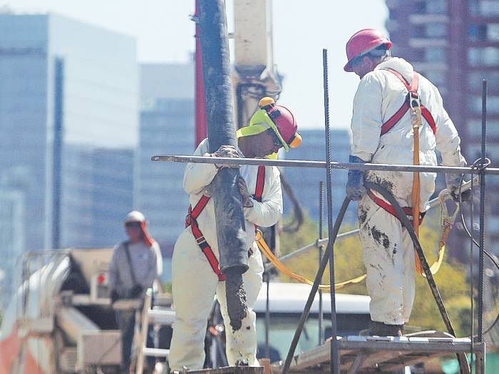
[{"label": "wet concrete clump hanging from the thick hose's lower end", "polygon": [[242,326],[242,320],[247,316],[245,284],[239,271],[226,272],[225,297],[230,326],[232,326],[232,331],[237,331]]}]

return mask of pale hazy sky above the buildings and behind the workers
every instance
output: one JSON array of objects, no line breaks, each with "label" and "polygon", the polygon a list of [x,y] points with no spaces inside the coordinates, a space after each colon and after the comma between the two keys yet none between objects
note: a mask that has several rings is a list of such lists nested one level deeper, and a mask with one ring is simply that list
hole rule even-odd
[{"label": "pale hazy sky above the buildings and behind the workers", "polygon": [[[195,0],[0,0],[14,11],[71,16],[137,40],[140,62],[184,62],[194,51]],[[227,0],[232,24],[232,0]],[[344,73],[345,43],[361,28],[384,29],[384,0],[273,0],[274,63],[284,76],[280,103],[301,128],[324,127],[322,48],[329,52],[331,128],[348,128],[359,82]],[[231,31],[231,30],[230,30]]]}]

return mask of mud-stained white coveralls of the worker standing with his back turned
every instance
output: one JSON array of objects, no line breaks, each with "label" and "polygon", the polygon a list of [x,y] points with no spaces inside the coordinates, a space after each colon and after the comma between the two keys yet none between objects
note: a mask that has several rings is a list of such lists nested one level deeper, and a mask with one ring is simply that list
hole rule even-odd
[{"label": "mud-stained white coveralls of the worker standing with his back turned", "polygon": [[[361,79],[354,99],[351,120],[351,155],[365,162],[413,165],[413,133],[408,111],[388,133],[380,137],[381,125],[401,108],[407,90],[392,68],[411,83],[413,66],[402,58],[391,58]],[[423,118],[420,128],[421,165],[436,165],[437,148],[446,166],[465,165],[460,138],[443,108],[438,89],[419,75],[418,95],[433,115],[436,134]],[[420,172],[420,212],[428,209],[435,189],[436,173]],[[411,207],[413,172],[369,171],[366,180],[381,184],[396,197],[401,207]],[[376,196],[381,194],[374,192]],[[381,197],[382,198],[382,197]],[[360,239],[367,271],[366,286],[371,296],[371,320],[391,325],[408,322],[414,300],[414,251],[406,229],[396,217],[365,194],[359,202]]]}]

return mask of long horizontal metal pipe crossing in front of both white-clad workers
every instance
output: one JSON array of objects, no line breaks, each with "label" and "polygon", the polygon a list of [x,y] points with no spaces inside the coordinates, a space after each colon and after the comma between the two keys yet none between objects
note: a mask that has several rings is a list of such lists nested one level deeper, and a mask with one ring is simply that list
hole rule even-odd
[{"label": "long horizontal metal pipe crossing in front of both white-clad workers", "polygon": [[[230,158],[230,157],[205,157],[182,155],[158,155],[151,157],[152,161],[167,162],[194,162],[198,164],[217,165],[266,165],[279,167],[326,167],[325,161],[309,160],[269,160],[267,158]],[[469,166],[428,166],[428,165],[399,165],[399,164],[354,164],[351,162],[331,161],[333,169],[352,170],[389,170],[394,172],[452,172],[455,174],[478,174],[480,170]],[[499,175],[499,168],[487,167],[487,175]]]}]

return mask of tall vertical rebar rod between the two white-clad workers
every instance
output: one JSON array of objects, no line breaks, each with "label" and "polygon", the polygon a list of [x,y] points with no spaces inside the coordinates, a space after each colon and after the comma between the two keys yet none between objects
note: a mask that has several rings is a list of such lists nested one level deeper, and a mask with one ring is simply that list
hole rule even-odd
[{"label": "tall vertical rebar rod between the two white-clad workers", "polygon": [[[324,70],[324,117],[326,125],[326,187],[327,187],[327,228],[329,237],[333,232],[333,195],[331,191],[331,133],[329,131],[329,87],[327,76],[327,49],[322,50]],[[334,289],[334,247],[329,241],[329,284],[331,284],[331,373],[339,374],[338,342],[336,341],[336,290]]]}]

